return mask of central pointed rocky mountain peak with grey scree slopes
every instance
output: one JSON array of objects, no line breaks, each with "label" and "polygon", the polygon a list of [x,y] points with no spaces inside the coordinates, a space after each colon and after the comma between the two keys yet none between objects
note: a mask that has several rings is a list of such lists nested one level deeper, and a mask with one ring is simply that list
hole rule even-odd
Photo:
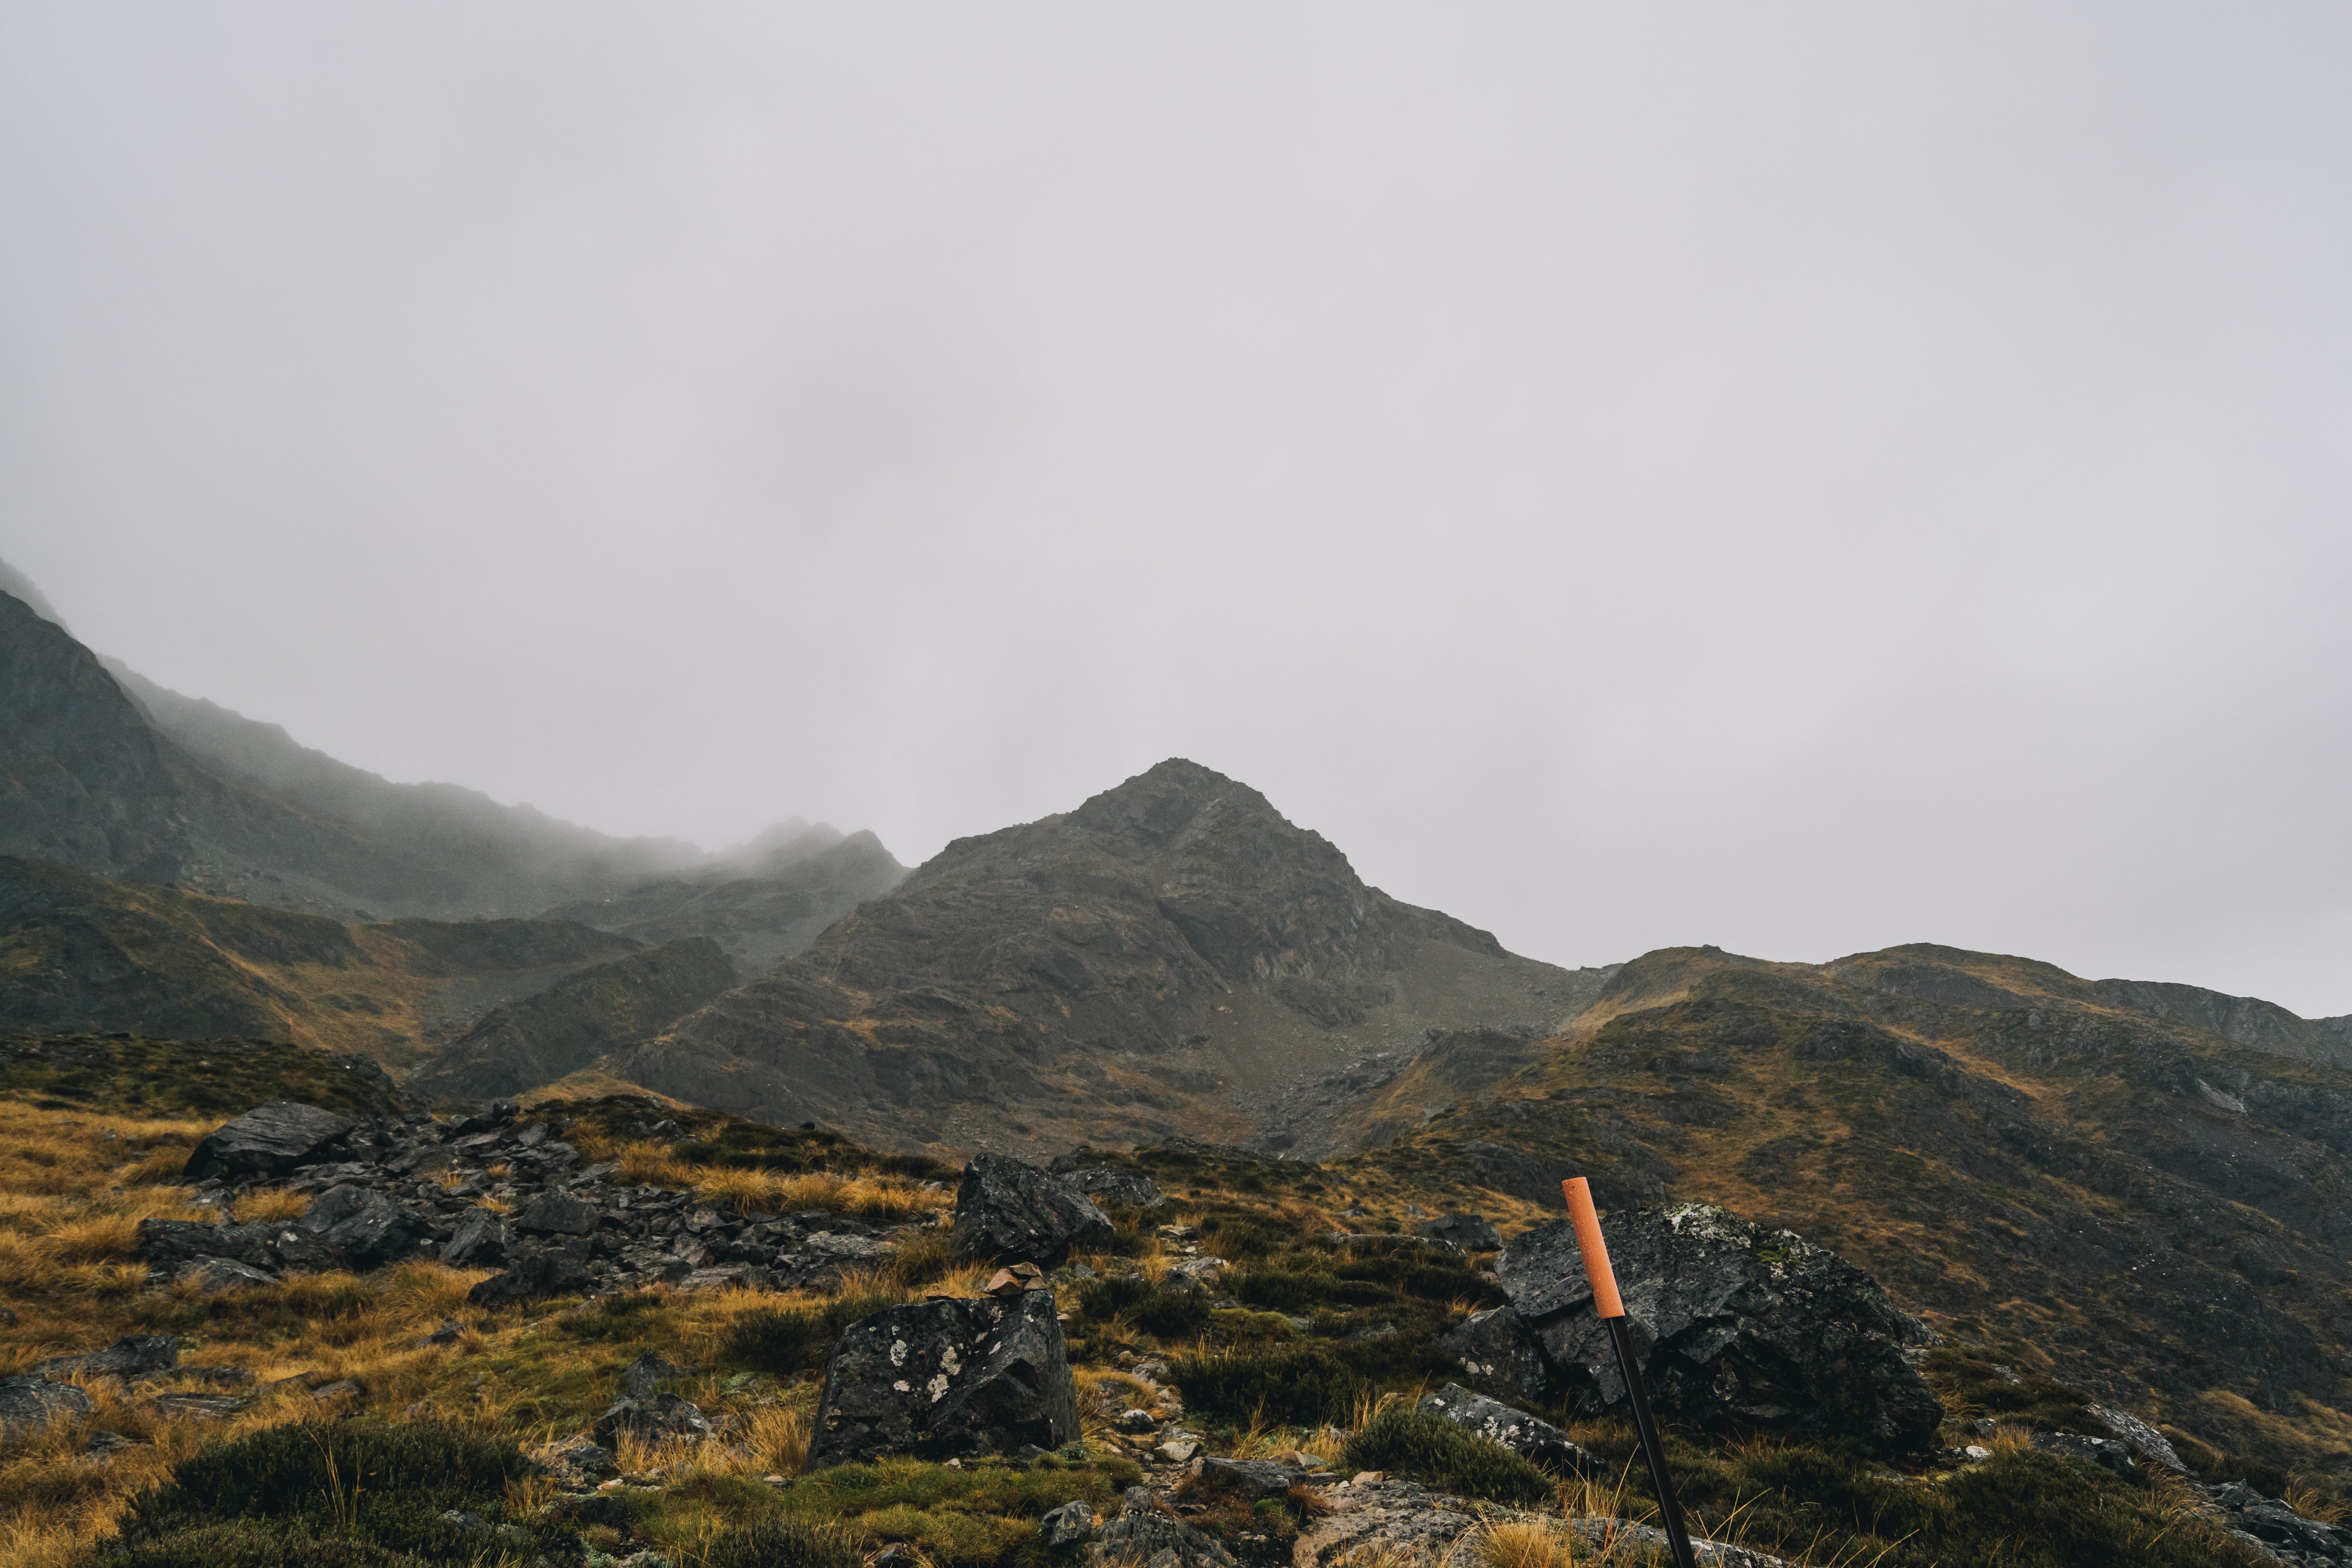
[{"label": "central pointed rocky mountain peak with grey scree slopes", "polygon": [[623,1072],[882,1147],[1272,1147],[1312,1079],[1432,1027],[1548,1032],[1590,980],[1364,886],[1256,790],[1171,759],[957,839]]}]

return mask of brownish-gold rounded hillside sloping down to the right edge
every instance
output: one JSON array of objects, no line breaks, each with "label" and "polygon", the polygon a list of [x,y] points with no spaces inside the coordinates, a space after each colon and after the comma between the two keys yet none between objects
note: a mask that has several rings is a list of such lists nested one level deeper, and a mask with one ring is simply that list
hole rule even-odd
[{"label": "brownish-gold rounded hillside sloping down to the right edge", "polygon": [[2343,1448],[2352,1070],[2185,1018],[2288,1044],[2340,1020],[2225,1001],[1952,947],[1672,947],[1486,1095],[1341,1168],[1724,1204],[2020,1366],[2251,1450]]}]

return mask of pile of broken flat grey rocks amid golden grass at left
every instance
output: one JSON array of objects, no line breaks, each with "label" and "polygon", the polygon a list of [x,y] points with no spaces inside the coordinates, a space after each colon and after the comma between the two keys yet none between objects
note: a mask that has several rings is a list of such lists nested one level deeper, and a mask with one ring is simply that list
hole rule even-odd
[{"label": "pile of broken flat grey rocks amid golden grass at left", "polygon": [[[151,1281],[207,1293],[402,1258],[499,1269],[470,1295],[489,1307],[652,1284],[826,1288],[896,1251],[894,1234],[847,1215],[722,1213],[691,1192],[614,1185],[612,1166],[583,1168],[560,1126],[513,1100],[452,1121],[263,1105],[198,1145],[188,1168],[205,1173],[198,1201],[221,1222],[143,1220],[139,1258]],[[301,1220],[240,1225],[235,1208],[259,1187],[315,1197]]]}]

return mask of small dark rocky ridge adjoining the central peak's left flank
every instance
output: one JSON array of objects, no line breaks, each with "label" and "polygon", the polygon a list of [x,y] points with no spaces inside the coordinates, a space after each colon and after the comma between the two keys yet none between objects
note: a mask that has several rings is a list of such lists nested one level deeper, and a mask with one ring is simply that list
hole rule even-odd
[{"label": "small dark rocky ridge adjoining the central peak's left flank", "polygon": [[520,1001],[492,1009],[409,1079],[437,1100],[489,1100],[581,1072],[652,1039],[736,983],[708,936],[595,964]]}]

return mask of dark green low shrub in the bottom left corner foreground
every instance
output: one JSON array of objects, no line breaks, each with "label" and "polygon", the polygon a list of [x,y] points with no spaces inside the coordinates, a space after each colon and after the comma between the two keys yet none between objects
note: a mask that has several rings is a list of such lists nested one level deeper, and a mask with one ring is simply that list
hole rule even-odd
[{"label": "dark green low shrub in the bottom left corner foreground", "polygon": [[[289,1425],[216,1443],[136,1495],[101,1563],[475,1563],[485,1547],[548,1552],[550,1526],[508,1519],[532,1472],[513,1441],[435,1422]],[[473,1514],[475,1528],[442,1519]],[[270,1549],[278,1556],[270,1556]]]}]

